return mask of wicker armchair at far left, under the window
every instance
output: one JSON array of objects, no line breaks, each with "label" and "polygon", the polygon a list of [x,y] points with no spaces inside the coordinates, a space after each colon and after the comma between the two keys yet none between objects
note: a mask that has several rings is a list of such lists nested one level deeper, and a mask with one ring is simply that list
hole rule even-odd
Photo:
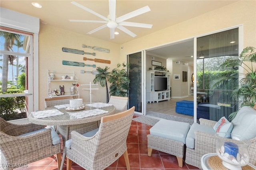
[{"label": "wicker armchair at far left, under the window", "polygon": [[4,170],[24,167],[31,162],[56,154],[58,169],[61,144],[53,129],[33,123],[13,124],[0,117],[1,165]]}]

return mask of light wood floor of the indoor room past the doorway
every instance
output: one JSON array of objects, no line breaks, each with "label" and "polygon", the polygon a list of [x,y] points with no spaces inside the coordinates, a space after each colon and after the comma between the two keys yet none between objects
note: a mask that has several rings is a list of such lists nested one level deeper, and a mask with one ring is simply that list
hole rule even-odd
[{"label": "light wood floor of the indoor room past the doorway", "polygon": [[165,113],[165,114],[168,114],[168,115],[175,115],[175,116],[180,116],[180,117],[193,119],[194,116],[184,115],[184,114],[180,114],[180,113],[175,112],[176,102],[180,101],[180,100],[191,100],[191,101],[193,101],[193,96],[189,95],[187,98],[171,98],[169,101],[164,100],[164,101],[160,101],[158,103],[156,103],[156,102],[147,103],[146,104],[146,111],[147,112],[148,111],[156,111],[156,112]]}]

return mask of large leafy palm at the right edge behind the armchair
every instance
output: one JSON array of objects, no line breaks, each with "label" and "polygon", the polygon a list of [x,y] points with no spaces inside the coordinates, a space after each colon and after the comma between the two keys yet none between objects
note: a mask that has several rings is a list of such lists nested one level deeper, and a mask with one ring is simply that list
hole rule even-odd
[{"label": "large leafy palm at the right edge behind the armchair", "polygon": [[[256,104],[256,53],[254,51],[254,47],[248,46],[243,49],[237,59],[226,59],[224,63],[221,64],[223,67],[238,68],[238,66],[240,66],[244,69],[244,72],[240,73],[244,74],[243,78],[240,80],[240,84],[232,92],[232,98],[234,101],[238,102],[238,108],[242,106],[254,107]],[[235,75],[236,74],[229,74],[218,78],[214,86],[236,79],[237,76]],[[229,118],[234,119],[236,113],[237,111],[231,113]]]}]

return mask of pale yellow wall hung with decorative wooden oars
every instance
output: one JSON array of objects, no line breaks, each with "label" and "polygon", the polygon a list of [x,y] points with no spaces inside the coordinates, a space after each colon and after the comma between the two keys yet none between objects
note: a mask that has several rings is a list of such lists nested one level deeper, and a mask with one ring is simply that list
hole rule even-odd
[{"label": "pale yellow wall hung with decorative wooden oars", "polygon": [[[82,48],[82,44],[110,49],[110,53]],[[65,53],[62,52],[62,47],[96,53],[96,56]],[[96,68],[89,66],[66,66],[62,65],[62,60],[83,62],[85,64],[96,64],[96,67],[99,66],[101,68],[108,66],[110,67],[109,71],[111,71],[119,62],[119,56],[119,45],[117,44],[41,24],[39,32],[39,109],[44,108],[44,98],[47,98],[47,70],[57,72],[75,71],[76,76],[78,77],[78,84],[89,84],[90,82],[93,84],[95,75],[88,73],[81,74],[80,70],[92,71],[96,70]],[[83,57],[110,60],[111,64],[83,61]],[[59,85],[62,86],[64,84],[66,83],[59,82],[56,88],[59,90]],[[66,91],[69,91],[72,83],[70,82],[68,85],[64,86]],[[84,102],[90,102],[90,91],[82,90],[82,88],[89,88],[89,86],[79,86],[78,88],[80,98],[83,98]],[[102,88],[100,85],[95,86],[94,88],[99,88],[99,90],[92,90],[93,101],[106,102],[106,88]]]}]

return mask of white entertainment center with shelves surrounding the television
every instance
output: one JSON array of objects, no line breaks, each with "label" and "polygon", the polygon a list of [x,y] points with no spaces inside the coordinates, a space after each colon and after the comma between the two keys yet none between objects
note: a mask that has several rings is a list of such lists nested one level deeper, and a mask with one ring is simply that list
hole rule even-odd
[{"label": "white entertainment center with shelves surrounding the television", "polygon": [[[163,91],[155,91],[155,78],[166,77],[167,89]],[[150,70],[146,72],[146,102],[159,102],[162,100],[170,100],[171,98],[171,86],[170,79],[171,74],[167,71]],[[165,85],[164,85],[165,86]]]}]

